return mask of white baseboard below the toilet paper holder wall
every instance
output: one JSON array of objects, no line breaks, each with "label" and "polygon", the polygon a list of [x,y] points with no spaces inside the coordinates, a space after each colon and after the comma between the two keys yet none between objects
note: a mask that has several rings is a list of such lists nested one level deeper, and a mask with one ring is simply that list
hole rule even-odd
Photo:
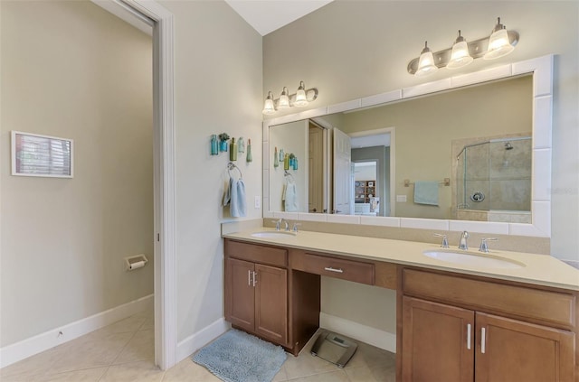
[{"label": "white baseboard below the toilet paper holder wall", "polygon": [[93,314],[90,317],[59,326],[26,340],[21,340],[4,348],[0,348],[0,368],[12,365],[19,360],[27,359],[44,350],[52,349],[64,342],[79,338],[90,333],[90,331],[96,331],[138,312],[152,309],[153,296],[153,294],[149,294],[129,303],[123,303],[108,311]]}]

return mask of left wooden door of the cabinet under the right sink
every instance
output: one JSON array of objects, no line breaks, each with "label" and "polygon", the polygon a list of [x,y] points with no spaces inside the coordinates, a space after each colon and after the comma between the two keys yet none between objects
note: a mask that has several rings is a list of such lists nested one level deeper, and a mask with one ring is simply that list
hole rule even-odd
[{"label": "left wooden door of the cabinet under the right sink", "polygon": [[474,380],[474,312],[403,297],[402,380]]}]

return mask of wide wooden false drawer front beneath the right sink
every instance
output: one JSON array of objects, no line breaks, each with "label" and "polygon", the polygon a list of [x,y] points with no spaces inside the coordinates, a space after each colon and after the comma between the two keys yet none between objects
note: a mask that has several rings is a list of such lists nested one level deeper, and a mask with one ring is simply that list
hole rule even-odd
[{"label": "wide wooden false drawer front beneath the right sink", "polygon": [[403,293],[491,310],[546,323],[574,326],[573,294],[404,269]]}]

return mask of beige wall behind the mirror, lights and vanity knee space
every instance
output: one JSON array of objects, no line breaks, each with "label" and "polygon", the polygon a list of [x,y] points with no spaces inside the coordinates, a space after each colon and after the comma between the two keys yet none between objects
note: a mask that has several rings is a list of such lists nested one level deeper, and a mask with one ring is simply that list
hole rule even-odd
[{"label": "beige wall behind the mirror, lights and vanity knee space", "polygon": [[[555,54],[551,253],[579,261],[577,14],[577,2],[337,0],[265,36],[263,90],[281,89],[304,80],[308,87],[319,90],[318,100],[309,106],[315,108]],[[489,35],[497,16],[521,36],[517,49],[507,57],[476,60],[452,73],[439,70],[426,79],[406,71],[408,62],[420,54],[424,40],[433,51],[439,51],[451,46],[458,29],[467,40],[479,39]],[[368,306],[394,309],[390,291],[378,289],[370,294],[368,290],[346,301],[340,296],[349,293],[349,286],[323,286],[323,312],[395,332],[395,326],[387,323],[392,317],[380,321],[382,312],[367,317],[356,307],[342,308],[364,295]]]}]

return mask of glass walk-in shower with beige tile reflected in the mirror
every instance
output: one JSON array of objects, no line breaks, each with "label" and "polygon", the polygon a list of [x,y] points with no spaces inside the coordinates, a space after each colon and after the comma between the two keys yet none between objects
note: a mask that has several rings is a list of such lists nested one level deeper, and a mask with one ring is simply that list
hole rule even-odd
[{"label": "glass walk-in shower with beige tile reflected in the mirror", "polygon": [[530,136],[465,145],[457,156],[457,219],[530,223]]}]

